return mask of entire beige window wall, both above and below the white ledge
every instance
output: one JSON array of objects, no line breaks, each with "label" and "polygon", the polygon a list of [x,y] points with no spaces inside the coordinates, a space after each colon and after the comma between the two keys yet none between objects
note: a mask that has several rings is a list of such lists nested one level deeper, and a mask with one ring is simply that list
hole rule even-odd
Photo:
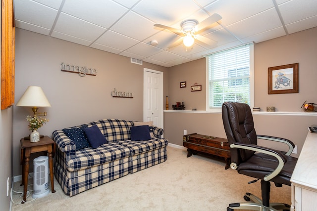
[{"label": "entire beige window wall, both above and below the white ledge", "polygon": [[[317,103],[317,28],[255,44],[255,106],[265,110],[275,106],[277,113],[254,115],[259,134],[289,138],[299,152],[307,135],[307,127],[317,124],[317,113],[304,113],[300,107],[305,100]],[[267,94],[267,68],[299,63],[299,93]],[[206,110],[206,62],[200,59],[169,68],[169,104],[184,101],[186,110]],[[187,81],[186,88],[179,82]],[[190,85],[202,84],[203,90],[191,92]],[[169,110],[171,110],[171,106]],[[263,111],[263,110],[262,110]],[[296,115],[300,112],[300,115]],[[167,111],[164,112],[164,134],[170,143],[182,145],[183,130],[225,137],[220,113]],[[263,142],[261,142],[262,144]],[[273,145],[276,148],[279,146]],[[298,155],[298,154],[297,154]]]}]

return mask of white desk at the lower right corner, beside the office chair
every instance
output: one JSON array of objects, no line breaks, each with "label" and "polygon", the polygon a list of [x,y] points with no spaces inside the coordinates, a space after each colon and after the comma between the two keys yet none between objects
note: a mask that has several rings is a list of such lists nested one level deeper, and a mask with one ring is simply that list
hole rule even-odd
[{"label": "white desk at the lower right corner, beside the office chair", "polygon": [[290,181],[291,211],[317,211],[317,133],[308,132]]}]

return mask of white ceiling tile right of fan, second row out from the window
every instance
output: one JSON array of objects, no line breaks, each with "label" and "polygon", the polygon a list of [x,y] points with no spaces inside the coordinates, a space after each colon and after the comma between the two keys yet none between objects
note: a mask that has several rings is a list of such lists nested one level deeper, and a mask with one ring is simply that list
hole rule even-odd
[{"label": "white ceiling tile right of fan, second row out from the window", "polygon": [[274,8],[226,27],[239,39],[282,26]]}]

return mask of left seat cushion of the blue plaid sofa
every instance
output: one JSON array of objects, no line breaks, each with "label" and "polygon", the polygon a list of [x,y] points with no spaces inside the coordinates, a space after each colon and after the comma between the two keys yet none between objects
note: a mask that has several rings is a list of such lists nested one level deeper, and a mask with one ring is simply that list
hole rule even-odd
[{"label": "left seat cushion of the blue plaid sofa", "polygon": [[89,147],[76,151],[76,157],[67,161],[66,168],[68,171],[88,169],[129,156],[128,148],[117,143],[106,143],[96,149]]}]

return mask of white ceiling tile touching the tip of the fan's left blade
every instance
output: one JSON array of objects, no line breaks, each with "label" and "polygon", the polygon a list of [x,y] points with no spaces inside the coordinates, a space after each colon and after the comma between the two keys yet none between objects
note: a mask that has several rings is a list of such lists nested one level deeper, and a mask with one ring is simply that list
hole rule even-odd
[{"label": "white ceiling tile touching the tip of the fan's left blade", "polygon": [[138,41],[152,36],[158,31],[154,29],[154,23],[135,12],[128,12],[110,30],[126,35]]}]

